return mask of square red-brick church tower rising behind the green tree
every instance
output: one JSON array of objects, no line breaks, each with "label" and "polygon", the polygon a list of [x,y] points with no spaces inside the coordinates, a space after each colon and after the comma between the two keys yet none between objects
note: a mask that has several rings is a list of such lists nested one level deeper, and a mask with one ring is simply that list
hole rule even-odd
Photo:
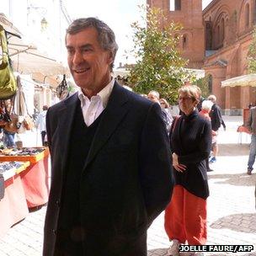
[{"label": "square red-brick church tower rising behind the green tree", "polygon": [[[200,68],[205,56],[202,0],[147,0],[150,8],[161,8],[167,22],[182,24],[179,48],[188,67]],[[163,24],[162,24],[163,25]]]}]

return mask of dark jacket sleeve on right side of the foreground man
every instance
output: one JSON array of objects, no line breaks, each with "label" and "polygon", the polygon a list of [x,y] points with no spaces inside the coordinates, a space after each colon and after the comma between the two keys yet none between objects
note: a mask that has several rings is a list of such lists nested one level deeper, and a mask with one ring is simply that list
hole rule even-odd
[{"label": "dark jacket sleeve on right side of the foreground man", "polygon": [[152,104],[141,133],[139,173],[148,226],[165,209],[173,192],[173,167],[161,109]]}]

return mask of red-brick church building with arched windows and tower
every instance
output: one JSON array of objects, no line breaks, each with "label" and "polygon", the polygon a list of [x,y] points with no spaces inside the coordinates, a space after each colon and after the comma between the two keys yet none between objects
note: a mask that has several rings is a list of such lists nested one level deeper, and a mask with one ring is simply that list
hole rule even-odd
[{"label": "red-brick church building with arched windows and tower", "polygon": [[241,115],[249,103],[256,102],[256,88],[221,88],[221,81],[248,73],[256,0],[212,0],[204,10],[201,0],[147,0],[147,4],[163,9],[167,22],[183,25],[182,56],[189,59],[188,67],[205,70],[210,92],[226,115]]}]

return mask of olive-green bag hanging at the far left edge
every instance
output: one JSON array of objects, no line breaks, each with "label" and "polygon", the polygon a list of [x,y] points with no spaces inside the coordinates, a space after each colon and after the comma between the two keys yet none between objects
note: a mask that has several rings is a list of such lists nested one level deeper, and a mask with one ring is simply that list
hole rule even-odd
[{"label": "olive-green bag hanging at the far left edge", "polygon": [[17,83],[8,56],[6,33],[1,24],[0,40],[3,54],[2,63],[0,64],[0,99],[11,99],[17,91]]}]

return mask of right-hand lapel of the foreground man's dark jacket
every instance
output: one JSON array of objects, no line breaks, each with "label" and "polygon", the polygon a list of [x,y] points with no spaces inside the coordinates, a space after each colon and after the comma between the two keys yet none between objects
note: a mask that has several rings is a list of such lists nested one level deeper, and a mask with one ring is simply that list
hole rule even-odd
[{"label": "right-hand lapel of the foreground man's dark jacket", "polygon": [[88,163],[93,160],[93,157],[96,156],[99,149],[108,141],[109,136],[112,135],[116,126],[119,125],[120,121],[129,110],[127,104],[128,98],[128,91],[115,82],[114,88],[109,97],[108,105],[106,109],[104,109],[104,115],[100,120],[92,146],[88,152],[88,157],[84,168],[88,166]]}]

